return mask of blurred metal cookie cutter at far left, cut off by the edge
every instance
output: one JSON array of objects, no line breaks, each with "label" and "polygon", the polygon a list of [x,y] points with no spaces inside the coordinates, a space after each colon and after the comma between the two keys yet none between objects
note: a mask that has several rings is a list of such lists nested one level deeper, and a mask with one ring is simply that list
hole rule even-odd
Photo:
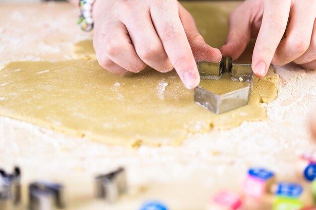
[{"label": "blurred metal cookie cutter at far left, cut off by the edge", "polygon": [[21,171],[14,168],[12,174],[0,169],[0,209],[12,209],[21,201]]}]

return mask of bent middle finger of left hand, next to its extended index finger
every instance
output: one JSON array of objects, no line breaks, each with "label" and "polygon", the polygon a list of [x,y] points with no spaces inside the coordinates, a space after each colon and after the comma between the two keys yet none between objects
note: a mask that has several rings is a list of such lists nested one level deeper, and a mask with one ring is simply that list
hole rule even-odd
[{"label": "bent middle finger of left hand, next to its extended index finger", "polygon": [[[137,10],[137,9],[136,9]],[[169,60],[151,22],[150,13],[134,11],[132,16],[122,17],[138,56],[159,72],[169,72],[173,65]]]}]

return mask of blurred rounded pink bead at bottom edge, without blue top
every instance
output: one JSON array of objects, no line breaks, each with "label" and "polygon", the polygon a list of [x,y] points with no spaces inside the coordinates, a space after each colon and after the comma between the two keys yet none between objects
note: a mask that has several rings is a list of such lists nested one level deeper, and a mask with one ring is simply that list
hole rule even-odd
[{"label": "blurred rounded pink bead at bottom edge, without blue top", "polygon": [[209,209],[237,210],[241,205],[241,197],[238,194],[225,191],[219,193],[211,200]]}]

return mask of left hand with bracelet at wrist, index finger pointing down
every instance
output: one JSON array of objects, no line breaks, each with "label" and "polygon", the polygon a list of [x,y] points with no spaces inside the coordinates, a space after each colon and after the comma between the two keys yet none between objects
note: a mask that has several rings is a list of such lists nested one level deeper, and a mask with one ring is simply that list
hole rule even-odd
[{"label": "left hand with bracelet at wrist, index finger pointing down", "polygon": [[200,81],[195,59],[221,59],[176,0],[96,0],[93,19],[96,57],[115,74],[138,73],[146,65],[163,73],[174,67],[192,89]]}]

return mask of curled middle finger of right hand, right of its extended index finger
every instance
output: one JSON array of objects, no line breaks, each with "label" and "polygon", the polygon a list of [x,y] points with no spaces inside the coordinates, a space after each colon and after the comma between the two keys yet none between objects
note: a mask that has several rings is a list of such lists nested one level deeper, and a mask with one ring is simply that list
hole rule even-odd
[{"label": "curled middle finger of right hand, right of its extended index finger", "polygon": [[[310,4],[307,4],[309,2]],[[310,44],[315,21],[316,1],[296,2],[291,9],[290,23],[273,57],[272,63],[285,65],[303,55]],[[315,3],[312,3],[315,2]],[[314,8],[314,9],[312,9]]]}]

